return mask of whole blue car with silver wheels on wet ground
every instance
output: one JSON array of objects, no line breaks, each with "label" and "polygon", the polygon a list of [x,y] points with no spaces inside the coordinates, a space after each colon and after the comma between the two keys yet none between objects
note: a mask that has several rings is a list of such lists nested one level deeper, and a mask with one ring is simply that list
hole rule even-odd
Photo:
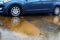
[{"label": "whole blue car with silver wheels on wet ground", "polygon": [[0,13],[14,17],[25,13],[60,15],[60,0],[0,0]]}]

